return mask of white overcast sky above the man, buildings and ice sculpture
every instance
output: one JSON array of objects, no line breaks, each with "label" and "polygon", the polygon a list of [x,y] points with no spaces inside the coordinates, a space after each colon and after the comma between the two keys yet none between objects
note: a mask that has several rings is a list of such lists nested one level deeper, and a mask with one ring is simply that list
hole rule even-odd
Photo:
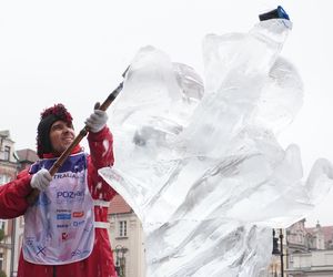
[{"label": "white overcast sky above the man, buildings and ice sculpture", "polygon": [[[248,32],[278,4],[294,24],[282,55],[305,89],[303,109],[280,142],[299,144],[307,174],[317,157],[333,162],[330,0],[0,0],[0,130],[10,130],[17,150],[34,148],[40,112],[54,103],[70,110],[80,130],[148,44],[202,75],[206,33]],[[333,189],[307,225],[333,225],[332,211]]]}]

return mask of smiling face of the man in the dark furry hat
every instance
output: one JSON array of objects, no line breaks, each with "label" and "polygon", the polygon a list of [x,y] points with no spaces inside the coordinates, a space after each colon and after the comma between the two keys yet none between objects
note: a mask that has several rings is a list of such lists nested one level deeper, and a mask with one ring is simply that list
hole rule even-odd
[{"label": "smiling face of the man in the dark furry hat", "polygon": [[50,141],[56,155],[61,155],[74,140],[73,125],[64,121],[56,121],[50,130]]}]

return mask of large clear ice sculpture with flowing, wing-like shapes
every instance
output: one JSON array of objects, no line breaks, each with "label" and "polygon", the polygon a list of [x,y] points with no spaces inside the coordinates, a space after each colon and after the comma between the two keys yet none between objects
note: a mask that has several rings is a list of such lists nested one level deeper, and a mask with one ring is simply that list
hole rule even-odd
[{"label": "large clear ice sculpture with flowing, wing-like shapes", "polygon": [[147,276],[261,276],[271,227],[302,218],[332,186],[327,161],[303,181],[297,146],[276,141],[302,105],[301,79],[279,57],[290,30],[273,19],[206,35],[204,90],[152,47],[133,60],[110,114],[115,165],[100,174],[142,222]]}]

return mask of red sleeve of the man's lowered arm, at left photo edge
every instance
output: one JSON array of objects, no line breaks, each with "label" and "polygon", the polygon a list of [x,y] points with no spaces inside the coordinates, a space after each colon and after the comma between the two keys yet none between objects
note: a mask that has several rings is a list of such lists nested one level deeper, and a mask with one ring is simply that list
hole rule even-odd
[{"label": "red sleeve of the man's lowered arm, at left photo edge", "polygon": [[26,213],[29,204],[26,199],[31,192],[31,175],[21,172],[18,177],[0,186],[0,218],[14,218]]}]

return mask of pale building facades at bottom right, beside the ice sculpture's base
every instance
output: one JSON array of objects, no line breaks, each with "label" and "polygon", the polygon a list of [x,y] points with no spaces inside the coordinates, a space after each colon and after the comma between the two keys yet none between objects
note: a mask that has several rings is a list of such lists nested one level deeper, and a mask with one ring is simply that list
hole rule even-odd
[{"label": "pale building facades at bottom right, beside the ice sculpture's base", "polygon": [[333,277],[333,226],[306,228],[302,219],[273,237],[266,276],[281,277],[283,268],[283,277]]}]

